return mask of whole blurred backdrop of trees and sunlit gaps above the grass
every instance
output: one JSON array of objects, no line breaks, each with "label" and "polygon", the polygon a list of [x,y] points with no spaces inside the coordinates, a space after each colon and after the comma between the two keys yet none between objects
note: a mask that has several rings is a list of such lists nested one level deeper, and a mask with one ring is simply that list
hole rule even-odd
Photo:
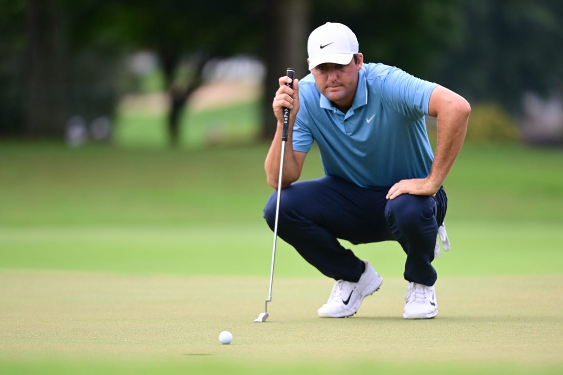
[{"label": "whole blurred backdrop of trees and sunlit gaps above the grass", "polygon": [[[2,137],[78,145],[96,124],[100,140],[159,132],[178,146],[198,127],[207,145],[236,141],[236,128],[245,129],[239,138],[269,139],[278,77],[287,66],[306,75],[307,35],[334,21],[355,31],[366,61],[466,97],[468,140],[563,145],[559,0],[0,0],[0,8]],[[229,91],[244,110],[205,120],[197,93],[221,80],[232,84],[208,96]],[[124,104],[132,95],[144,97]]]}]

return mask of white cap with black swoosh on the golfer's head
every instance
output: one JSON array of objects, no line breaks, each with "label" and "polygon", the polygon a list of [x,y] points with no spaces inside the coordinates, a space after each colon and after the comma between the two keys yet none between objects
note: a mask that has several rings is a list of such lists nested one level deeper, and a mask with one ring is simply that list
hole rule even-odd
[{"label": "white cap with black swoosh on the golfer's head", "polygon": [[358,48],[358,39],[348,26],[327,22],[309,35],[309,70],[324,63],[347,65]]}]

